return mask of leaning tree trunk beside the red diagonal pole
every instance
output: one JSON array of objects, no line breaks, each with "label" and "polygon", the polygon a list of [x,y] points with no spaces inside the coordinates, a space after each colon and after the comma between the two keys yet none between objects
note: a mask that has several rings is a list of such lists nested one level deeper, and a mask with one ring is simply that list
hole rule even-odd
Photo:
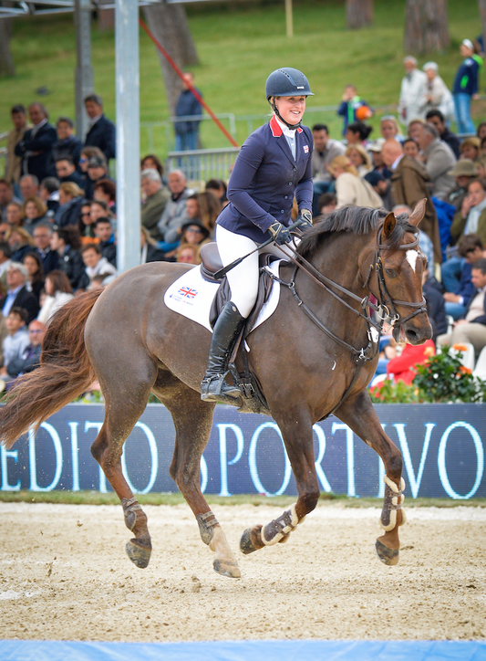
[{"label": "leaning tree trunk beside the red diagonal pole", "polygon": [[[146,5],[143,7],[143,14],[150,32],[167,50],[178,67],[184,68],[199,64],[186,12],[182,5],[166,5],[165,3]],[[160,59],[169,109],[171,115],[174,116],[181,91],[181,80],[159,49],[157,54]]]}]

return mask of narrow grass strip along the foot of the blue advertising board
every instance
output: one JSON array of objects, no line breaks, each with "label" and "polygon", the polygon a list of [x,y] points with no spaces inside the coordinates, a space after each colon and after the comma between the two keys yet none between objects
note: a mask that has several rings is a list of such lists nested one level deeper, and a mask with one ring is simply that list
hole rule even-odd
[{"label": "narrow grass strip along the foot of the blue advertising board", "polygon": [[[185,500],[181,493],[150,493],[138,494],[141,505],[181,505]],[[221,496],[205,494],[210,505],[274,505],[286,507],[295,503],[295,496],[274,496],[267,498],[260,495],[239,495],[222,498]],[[336,503],[345,508],[381,507],[381,498],[348,498],[334,493],[322,493],[321,503]],[[0,502],[26,503],[57,503],[65,505],[119,505],[119,498],[113,492],[98,491],[0,491]],[[470,500],[452,500],[451,498],[407,498],[406,507],[457,508],[460,506],[486,508],[486,498],[470,498]]]}]

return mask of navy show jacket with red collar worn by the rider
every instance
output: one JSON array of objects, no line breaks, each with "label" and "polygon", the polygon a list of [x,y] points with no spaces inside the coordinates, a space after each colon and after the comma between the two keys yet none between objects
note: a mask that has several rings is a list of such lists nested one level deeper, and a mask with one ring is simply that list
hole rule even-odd
[{"label": "navy show jacket with red collar worn by the rider", "polygon": [[294,195],[299,211],[312,209],[314,142],[306,126],[295,131],[295,159],[281,126],[273,117],[243,143],[228,183],[230,204],[218,225],[256,243],[269,238],[275,220],[291,225]]}]

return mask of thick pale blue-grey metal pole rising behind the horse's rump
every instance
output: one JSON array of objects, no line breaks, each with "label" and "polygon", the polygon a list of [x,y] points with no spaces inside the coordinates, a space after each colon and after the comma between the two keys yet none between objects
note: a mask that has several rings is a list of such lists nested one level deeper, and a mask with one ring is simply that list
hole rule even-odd
[{"label": "thick pale blue-grey metal pole rising behind the horse's rump", "polygon": [[116,0],[117,268],[140,264],[139,5]]}]

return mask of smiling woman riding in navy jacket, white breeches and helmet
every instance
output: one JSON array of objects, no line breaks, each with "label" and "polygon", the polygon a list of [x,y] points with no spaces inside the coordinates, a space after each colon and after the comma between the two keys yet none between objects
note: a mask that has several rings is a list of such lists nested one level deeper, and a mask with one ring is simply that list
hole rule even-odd
[{"label": "smiling woman riding in navy jacket, white breeches and helmet", "polygon": [[[301,126],[305,99],[314,96],[305,75],[295,68],[276,69],[265,84],[274,115],[244,142],[228,184],[230,204],[216,220],[216,242],[223,266],[251,253],[268,238],[264,248],[283,257],[284,244],[293,238],[287,227],[297,201],[300,229],[312,227],[312,132]],[[276,246],[275,246],[276,244]],[[225,382],[234,341],[253,309],[258,291],[258,253],[228,271],[232,298],[212,331],[208,368],[201,398],[208,402],[238,397],[240,391]]]}]

